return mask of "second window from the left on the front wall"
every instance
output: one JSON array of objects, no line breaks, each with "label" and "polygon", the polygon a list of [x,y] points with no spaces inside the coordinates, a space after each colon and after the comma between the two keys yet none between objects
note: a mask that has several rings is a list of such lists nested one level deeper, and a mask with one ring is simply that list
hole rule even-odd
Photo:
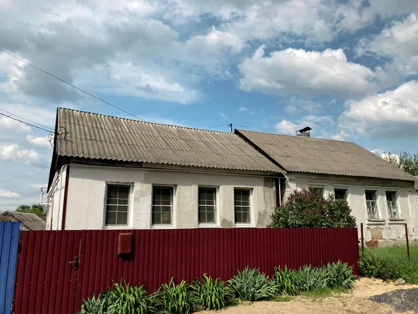
[{"label": "second window from the left on the front wall", "polygon": [[173,216],[173,187],[153,186],[153,225],[171,225]]}]

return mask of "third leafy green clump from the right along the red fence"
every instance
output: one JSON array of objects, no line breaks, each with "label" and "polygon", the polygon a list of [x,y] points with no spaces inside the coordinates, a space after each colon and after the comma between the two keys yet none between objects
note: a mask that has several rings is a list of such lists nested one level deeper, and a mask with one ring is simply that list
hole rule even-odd
[{"label": "third leafy green clump from the right along the red fence", "polygon": [[302,289],[302,277],[299,271],[290,270],[286,266],[284,269],[274,267],[273,283],[276,285],[277,293],[296,295]]}]

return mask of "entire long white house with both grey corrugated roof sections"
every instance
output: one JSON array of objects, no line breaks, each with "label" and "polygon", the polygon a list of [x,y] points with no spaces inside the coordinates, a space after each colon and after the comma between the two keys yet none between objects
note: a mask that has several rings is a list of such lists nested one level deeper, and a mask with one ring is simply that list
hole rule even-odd
[{"label": "entire long white house with both grey corrugated roof sections", "polygon": [[265,227],[295,189],[348,200],[369,244],[417,239],[415,177],[355,143],[59,108],[47,230]]}]

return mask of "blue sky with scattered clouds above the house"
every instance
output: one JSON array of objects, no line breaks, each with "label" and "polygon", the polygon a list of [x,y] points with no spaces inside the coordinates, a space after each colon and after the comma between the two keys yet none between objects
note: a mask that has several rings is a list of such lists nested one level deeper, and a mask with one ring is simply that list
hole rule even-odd
[{"label": "blue sky with scattered clouds above the house", "polygon": [[[0,20],[1,49],[147,121],[418,148],[418,1],[6,0]],[[56,107],[128,117],[0,52],[0,110],[53,128]],[[38,202],[51,156],[0,117],[0,211]]]}]

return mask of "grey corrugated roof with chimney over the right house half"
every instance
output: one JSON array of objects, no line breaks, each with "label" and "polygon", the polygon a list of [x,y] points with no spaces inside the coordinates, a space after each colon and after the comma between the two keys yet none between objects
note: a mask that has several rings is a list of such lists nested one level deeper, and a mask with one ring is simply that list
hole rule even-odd
[{"label": "grey corrugated roof with chimney over the right house half", "polygon": [[236,130],[288,172],[414,181],[412,175],[353,142]]}]

